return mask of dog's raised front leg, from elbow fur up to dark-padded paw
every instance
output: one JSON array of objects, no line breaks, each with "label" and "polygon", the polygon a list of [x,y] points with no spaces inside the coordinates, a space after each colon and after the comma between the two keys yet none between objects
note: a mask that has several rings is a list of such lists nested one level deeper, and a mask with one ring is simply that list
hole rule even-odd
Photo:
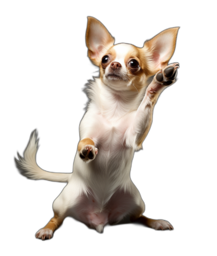
[{"label": "dog's raised front leg, from elbow fur up to dark-padded paw", "polygon": [[159,94],[169,85],[175,82],[178,63],[170,64],[157,72],[154,79],[146,89],[144,99],[138,107],[133,121],[132,131],[136,133],[137,149],[142,148],[142,143],[152,123],[152,113]]}]

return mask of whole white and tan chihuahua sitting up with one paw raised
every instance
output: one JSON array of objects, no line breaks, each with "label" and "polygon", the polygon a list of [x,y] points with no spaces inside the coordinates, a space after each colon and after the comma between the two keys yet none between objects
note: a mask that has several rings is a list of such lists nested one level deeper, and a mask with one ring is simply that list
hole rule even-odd
[{"label": "whole white and tan chihuahua sitting up with one paw raised", "polygon": [[170,28],[144,43],[114,45],[104,25],[88,17],[88,57],[100,70],[86,87],[90,99],[80,123],[80,142],[73,172],[50,173],[36,164],[37,134],[31,134],[24,157],[15,159],[20,173],[29,179],[68,182],[53,203],[54,217],[35,237],[48,240],[66,217],[85,223],[98,233],[107,224],[129,217],[155,230],[173,230],[163,220],[143,214],[145,204],[130,179],[135,151],[142,149],[158,96],[173,84],[178,63],[173,56],[178,28]]}]

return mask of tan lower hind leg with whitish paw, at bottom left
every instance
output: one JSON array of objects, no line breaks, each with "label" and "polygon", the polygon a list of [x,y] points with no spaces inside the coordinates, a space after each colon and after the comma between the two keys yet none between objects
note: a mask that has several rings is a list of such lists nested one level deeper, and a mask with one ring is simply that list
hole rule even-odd
[{"label": "tan lower hind leg with whitish paw, at bottom left", "polygon": [[35,237],[41,240],[50,239],[53,237],[53,233],[62,225],[63,219],[54,212],[54,217],[47,223],[47,225],[37,231]]}]

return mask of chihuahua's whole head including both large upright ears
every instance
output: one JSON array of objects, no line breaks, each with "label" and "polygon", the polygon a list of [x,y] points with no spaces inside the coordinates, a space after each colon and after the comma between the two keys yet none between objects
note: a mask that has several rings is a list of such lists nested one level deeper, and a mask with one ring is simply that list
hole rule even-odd
[{"label": "chihuahua's whole head including both large upright ears", "polygon": [[146,81],[166,66],[174,53],[178,28],[167,29],[146,41],[143,48],[114,45],[114,38],[98,20],[88,17],[88,56],[100,68],[104,84],[115,90],[141,90]]}]

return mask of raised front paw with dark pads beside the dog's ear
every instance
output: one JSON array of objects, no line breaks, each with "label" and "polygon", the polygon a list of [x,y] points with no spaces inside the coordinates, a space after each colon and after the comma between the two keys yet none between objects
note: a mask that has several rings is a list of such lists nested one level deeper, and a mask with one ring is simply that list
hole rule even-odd
[{"label": "raised front paw with dark pads beside the dog's ear", "polygon": [[154,79],[156,82],[161,83],[164,86],[169,86],[175,82],[175,78],[177,76],[177,68],[179,68],[178,63],[170,64],[164,69],[159,70]]}]

